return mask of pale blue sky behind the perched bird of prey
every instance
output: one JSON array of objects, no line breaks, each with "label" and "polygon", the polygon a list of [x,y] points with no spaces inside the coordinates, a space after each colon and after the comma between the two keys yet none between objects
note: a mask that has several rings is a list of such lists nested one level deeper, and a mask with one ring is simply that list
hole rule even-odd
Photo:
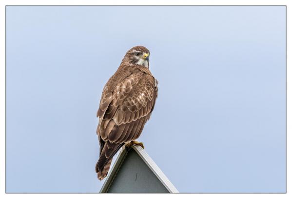
[{"label": "pale blue sky behind the perched bird of prey", "polygon": [[285,6],[6,7],[6,191],[98,192],[125,52],[159,81],[140,141],[180,192],[285,192]]}]

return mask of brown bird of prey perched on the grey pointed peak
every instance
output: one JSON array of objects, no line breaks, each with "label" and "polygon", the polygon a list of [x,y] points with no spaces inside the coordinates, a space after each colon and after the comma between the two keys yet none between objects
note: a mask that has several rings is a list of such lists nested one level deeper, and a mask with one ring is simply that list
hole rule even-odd
[{"label": "brown bird of prey perched on the grey pointed peak", "polygon": [[99,159],[97,178],[104,179],[113,156],[126,144],[144,148],[137,139],[150,118],[158,81],[149,70],[150,52],[144,46],[127,51],[116,73],[105,84],[97,111]]}]

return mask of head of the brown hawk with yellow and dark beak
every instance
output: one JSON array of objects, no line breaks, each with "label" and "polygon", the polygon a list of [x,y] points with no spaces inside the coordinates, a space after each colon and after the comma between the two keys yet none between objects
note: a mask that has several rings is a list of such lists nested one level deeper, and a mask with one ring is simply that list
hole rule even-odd
[{"label": "head of the brown hawk with yellow and dark beak", "polygon": [[135,46],[128,50],[124,60],[127,60],[129,63],[142,65],[149,68],[149,56],[150,52],[144,46]]}]

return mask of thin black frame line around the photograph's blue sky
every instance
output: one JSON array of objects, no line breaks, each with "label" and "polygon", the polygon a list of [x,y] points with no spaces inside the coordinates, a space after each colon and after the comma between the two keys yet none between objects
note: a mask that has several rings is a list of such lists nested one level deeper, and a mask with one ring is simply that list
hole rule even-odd
[{"label": "thin black frame line around the photograph's blue sky", "polygon": [[[208,193],[208,192],[197,192],[197,193],[193,193],[193,192],[186,192],[186,193],[178,193],[178,194],[287,194],[287,5],[5,5],[5,193],[6,194],[98,194],[98,192],[7,192],[6,190],[6,61],[7,61],[7,55],[6,55],[6,20],[7,20],[7,6],[285,6],[285,130],[286,130],[286,138],[285,138],[285,155],[286,155],[286,159],[285,159],[285,192],[214,192],[214,193]],[[177,194],[177,193],[175,193]]]}]

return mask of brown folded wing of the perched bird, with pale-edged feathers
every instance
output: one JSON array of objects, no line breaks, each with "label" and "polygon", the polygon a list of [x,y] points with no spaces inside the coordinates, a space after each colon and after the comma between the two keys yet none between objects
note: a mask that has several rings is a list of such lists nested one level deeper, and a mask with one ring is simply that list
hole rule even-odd
[{"label": "brown folded wing of the perched bird, with pale-edged feathers", "polygon": [[137,139],[150,118],[156,100],[155,80],[141,71],[120,81],[113,92],[105,86],[100,107],[98,136],[103,146],[97,162],[99,170],[121,145]]}]

